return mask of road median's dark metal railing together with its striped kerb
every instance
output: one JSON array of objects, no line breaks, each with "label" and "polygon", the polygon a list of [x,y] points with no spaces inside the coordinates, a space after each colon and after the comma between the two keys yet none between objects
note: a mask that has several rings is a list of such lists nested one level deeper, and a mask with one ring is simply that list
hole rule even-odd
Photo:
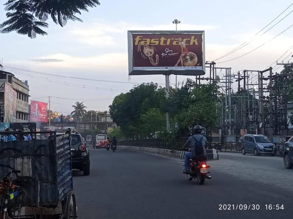
[{"label": "road median's dark metal railing together with its striped kerb", "polygon": [[[186,151],[168,148],[166,144],[164,144],[163,139],[160,138],[119,141],[118,146],[128,150],[143,151],[180,159],[184,159],[186,153]],[[207,159],[218,160],[219,155],[217,150],[207,149]]]}]

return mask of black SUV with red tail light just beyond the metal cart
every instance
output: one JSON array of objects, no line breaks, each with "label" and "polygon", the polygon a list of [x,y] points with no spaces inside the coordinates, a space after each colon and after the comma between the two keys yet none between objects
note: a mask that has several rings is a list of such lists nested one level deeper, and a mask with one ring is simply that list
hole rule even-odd
[{"label": "black SUV with red tail light just beyond the metal cart", "polygon": [[90,175],[90,151],[87,146],[80,134],[71,133],[72,169],[83,171],[83,176]]}]

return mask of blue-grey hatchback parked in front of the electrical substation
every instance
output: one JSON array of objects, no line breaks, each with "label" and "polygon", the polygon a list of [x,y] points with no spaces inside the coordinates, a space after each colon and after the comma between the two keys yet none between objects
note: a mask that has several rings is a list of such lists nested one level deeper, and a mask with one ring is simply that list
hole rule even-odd
[{"label": "blue-grey hatchback parked in front of the electrical substation", "polygon": [[261,154],[274,156],[276,154],[276,146],[267,136],[246,134],[242,141],[242,154],[246,153],[259,156]]}]

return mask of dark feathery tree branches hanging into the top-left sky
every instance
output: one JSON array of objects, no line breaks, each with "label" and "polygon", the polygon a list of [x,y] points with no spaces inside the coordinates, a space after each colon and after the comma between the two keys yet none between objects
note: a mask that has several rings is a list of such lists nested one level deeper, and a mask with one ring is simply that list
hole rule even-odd
[{"label": "dark feathery tree branches hanging into the top-left sky", "polygon": [[54,23],[65,26],[68,20],[81,21],[76,14],[88,12],[88,7],[100,5],[98,0],[8,0],[5,4],[7,20],[0,24],[0,33],[16,31],[36,38],[47,35],[41,28],[48,28],[49,16]]}]

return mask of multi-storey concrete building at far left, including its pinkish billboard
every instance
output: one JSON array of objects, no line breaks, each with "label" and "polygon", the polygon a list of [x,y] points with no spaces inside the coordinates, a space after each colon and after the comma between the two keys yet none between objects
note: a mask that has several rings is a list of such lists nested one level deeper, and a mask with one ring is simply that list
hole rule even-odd
[{"label": "multi-storey concrete building at far left, including its pinkish billboard", "polygon": [[0,122],[28,122],[29,86],[0,70]]}]

